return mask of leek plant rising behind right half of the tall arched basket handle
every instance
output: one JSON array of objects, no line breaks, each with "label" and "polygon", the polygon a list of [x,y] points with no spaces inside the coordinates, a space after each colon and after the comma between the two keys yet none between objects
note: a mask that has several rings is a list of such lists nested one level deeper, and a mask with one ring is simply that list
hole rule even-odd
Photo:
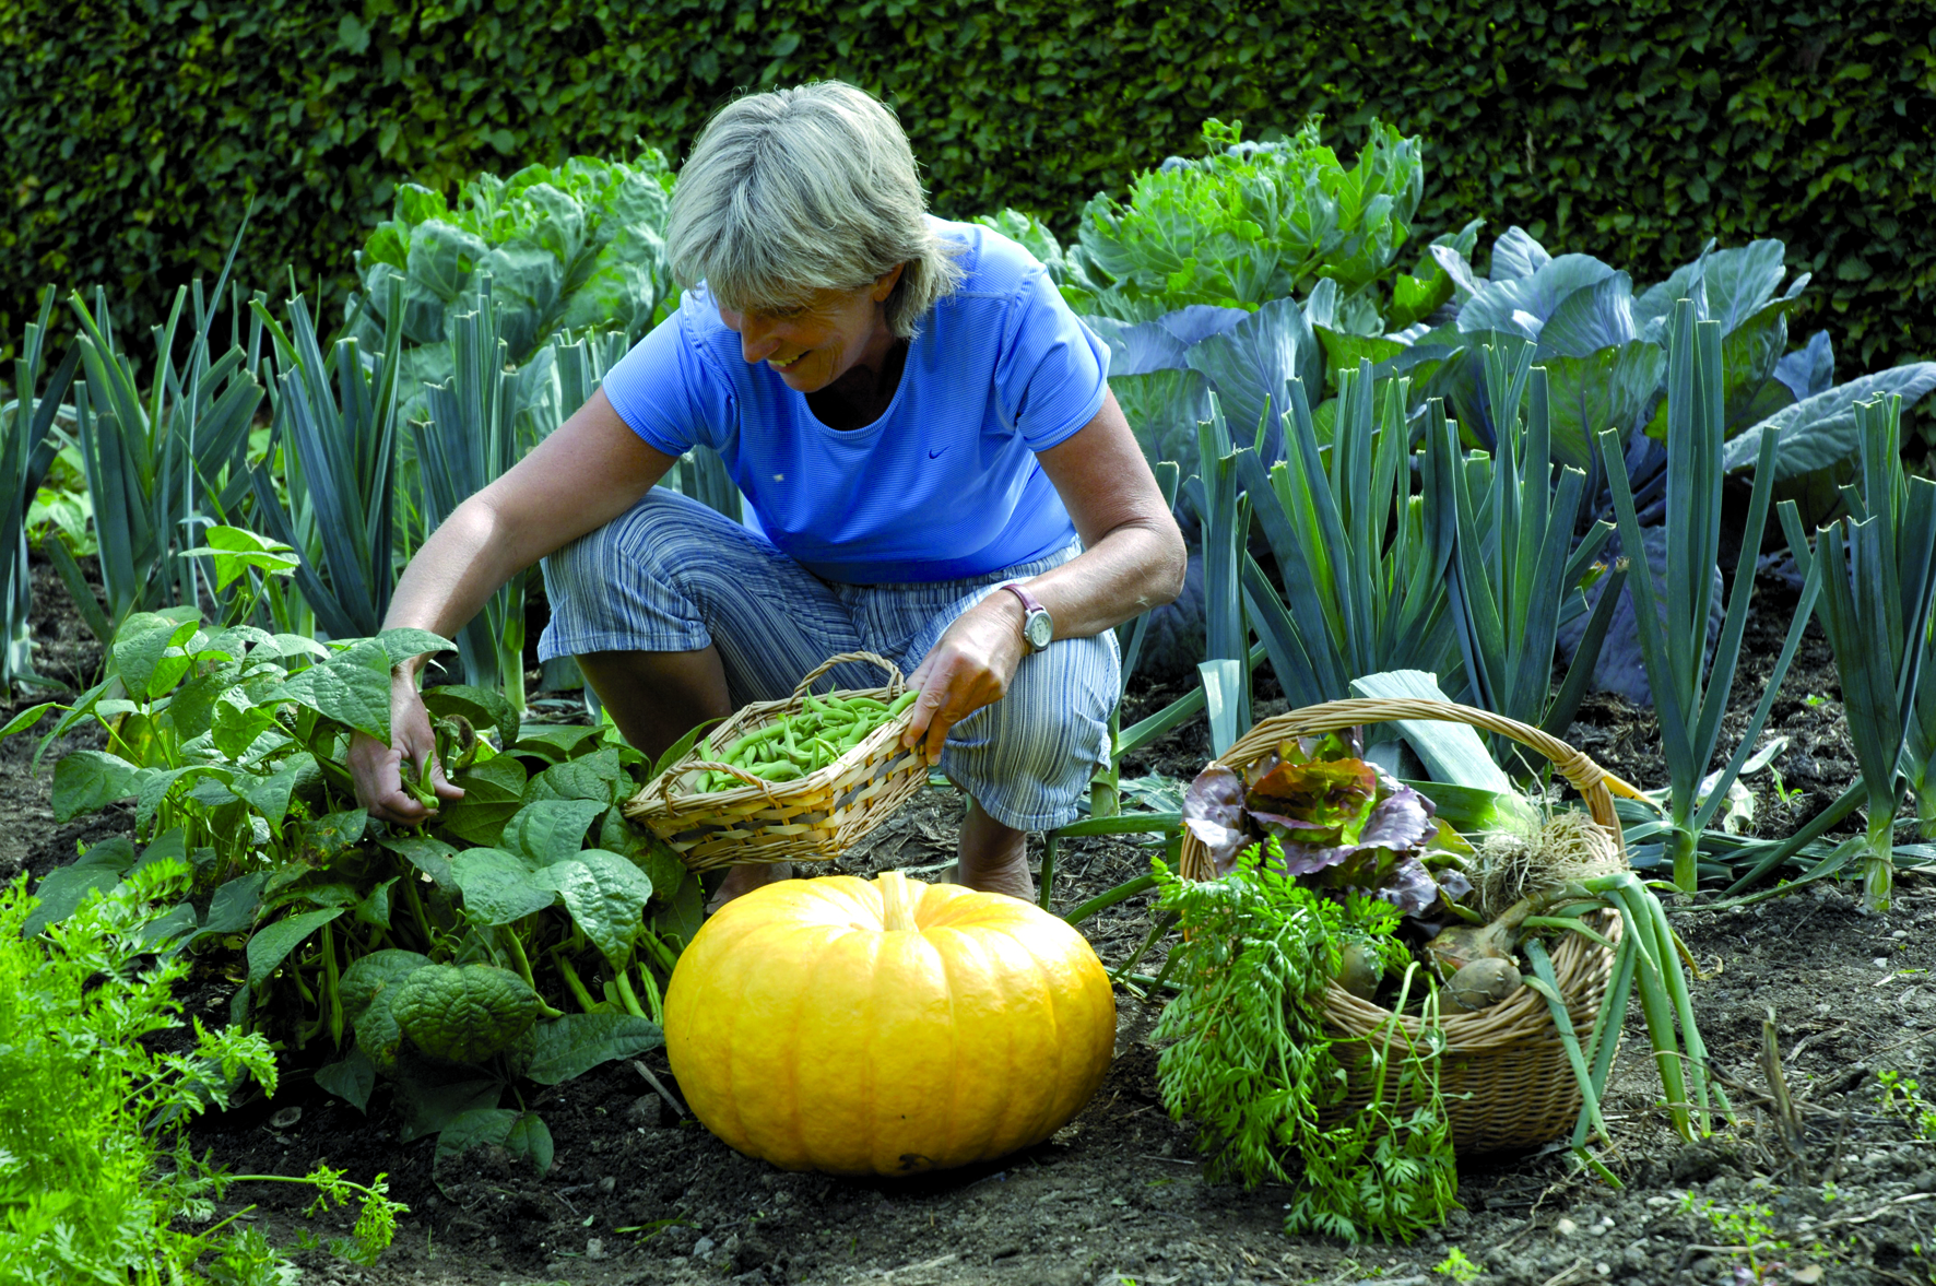
[{"label": "leek plant rising behind right half of the tall arched basket handle", "polygon": [[[1593,562],[1613,536],[1611,523],[1593,523],[1574,542],[1586,473],[1562,465],[1555,484],[1547,372],[1531,362],[1531,345],[1512,356],[1504,347],[1485,349],[1498,436],[1491,459],[1483,451],[1462,457],[1444,403],[1435,397],[1427,405],[1427,531],[1450,540],[1446,589],[1467,703],[1564,736],[1599,660],[1626,567],[1603,571]],[[1588,612],[1580,591],[1595,577],[1605,579],[1599,604],[1555,689],[1558,629]],[[1495,738],[1495,753],[1504,757],[1508,744]]]}]

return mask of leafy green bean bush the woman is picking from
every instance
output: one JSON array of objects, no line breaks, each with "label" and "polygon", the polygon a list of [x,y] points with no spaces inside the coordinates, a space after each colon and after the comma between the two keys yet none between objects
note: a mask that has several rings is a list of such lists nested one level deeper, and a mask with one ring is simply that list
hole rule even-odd
[{"label": "leafy green bean bush the woman is picking from", "polygon": [[660,1044],[660,986],[699,928],[699,885],[620,815],[656,765],[608,728],[521,726],[496,689],[426,693],[463,800],[418,833],[354,808],[350,734],[387,740],[393,662],[447,647],[420,629],[323,647],[252,626],[209,633],[180,608],[132,616],[106,680],[0,728],[66,711],[45,753],[101,724],[106,750],[54,767],[54,811],[132,796],[145,841],[139,856],[114,839],[48,873],[27,930],[186,858],[207,899],[170,906],[151,937],[172,939],[170,955],[240,949],[238,1021],[288,1048],[327,1040],[339,1059],[318,1081],[358,1108],[378,1075],[395,1079],[408,1127],[443,1137],[439,1156],[501,1143],[544,1168],[542,1121],[499,1098]]}]

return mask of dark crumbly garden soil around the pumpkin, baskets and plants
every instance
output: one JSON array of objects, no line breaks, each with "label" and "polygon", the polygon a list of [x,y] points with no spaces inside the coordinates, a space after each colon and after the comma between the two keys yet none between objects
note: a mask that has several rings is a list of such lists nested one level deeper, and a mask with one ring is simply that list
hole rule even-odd
[{"label": "dark crumbly garden soil around the pumpkin, baskets and plants", "polygon": [[[64,598],[52,583],[37,591],[43,604]],[[1760,591],[1731,728],[1760,697],[1756,676],[1766,678],[1795,606],[1779,581],[1764,581]],[[43,668],[66,666],[60,678],[85,684],[97,651],[77,622],[60,612],[50,620]],[[1260,713],[1280,711],[1268,682],[1260,688]],[[1179,691],[1133,693],[1125,722]],[[1791,740],[1775,761],[1781,777],[1754,781],[1756,831],[1787,833],[1853,779],[1839,711],[1833,666],[1816,635],[1773,707],[1770,734]],[[1638,786],[1663,784],[1649,711],[1593,697],[1570,740]],[[0,866],[39,877],[70,860],[76,841],[126,827],[128,817],[56,827],[46,810],[48,771],[33,769],[29,755],[19,738],[0,744]],[[1189,777],[1204,757],[1196,724],[1125,765],[1125,775]],[[842,870],[939,872],[953,854],[958,819],[953,792],[923,792]],[[1069,910],[1144,870],[1148,850],[1127,839],[1067,842],[1055,906]],[[1458,1251],[1483,1267],[1466,1280],[1526,1286],[1930,1286],[1936,1143],[1917,1141],[1876,1100],[1880,1071],[1921,1075],[1936,1067],[1936,883],[1905,877],[1895,910],[1880,918],[1859,914],[1847,889],[1824,885],[1756,908],[1709,910],[1700,901],[1711,897],[1682,903],[1671,916],[1702,963],[1696,1013],[1735,1087],[1739,1127],[1698,1147],[1669,1133],[1651,1108],[1659,1083],[1636,1015],[1605,1104],[1617,1143],[1609,1164],[1626,1187],[1615,1191],[1582,1176],[1562,1150],[1466,1158],[1464,1210],[1409,1247],[1286,1238],[1286,1189],[1206,1183],[1191,1127],[1171,1121],[1160,1104],[1150,1042],[1158,1011],[1127,992],[1117,997],[1115,1065],[1069,1127],[1001,1162],[920,1179],[776,1172],[681,1118],[629,1063],[594,1069],[532,1100],[556,1141],[546,1176],[501,1152],[476,1150],[449,1166],[439,1187],[432,1141],[397,1143],[387,1090],[378,1090],[366,1118],[318,1090],[296,1056],[273,1100],[257,1096],[205,1118],[194,1143],[242,1174],[304,1174],[325,1160],[356,1179],[389,1174],[393,1195],[410,1205],[395,1247],[374,1269],[300,1251],[314,1282],[1429,1286],[1456,1280],[1435,1269],[1450,1271]],[[1134,951],[1148,928],[1146,897],[1084,924],[1111,964]],[[1162,947],[1152,959],[1162,959]],[[227,1015],[232,974],[234,961],[203,957],[186,994],[190,1009],[209,1021]],[[1770,1013],[1799,1102],[1799,1137],[1785,1137],[1768,1112],[1762,1059]],[[674,1087],[662,1052],[643,1061]],[[279,1243],[312,1226],[294,1191],[232,1195],[259,1203],[256,1218]]]}]

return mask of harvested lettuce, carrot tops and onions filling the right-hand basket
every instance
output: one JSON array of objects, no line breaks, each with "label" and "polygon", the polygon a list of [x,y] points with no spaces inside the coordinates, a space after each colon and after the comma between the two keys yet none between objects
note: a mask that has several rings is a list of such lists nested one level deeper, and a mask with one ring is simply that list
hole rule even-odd
[{"label": "harvested lettuce, carrot tops and onions filling the right-hand basket", "polygon": [[[1158,978],[1175,974],[1179,988],[1158,1030],[1171,1040],[1160,1085],[1171,1116],[1198,1121],[1218,1174],[1295,1183],[1289,1232],[1409,1240],[1440,1224],[1458,1187],[1438,1092],[1442,1015],[1522,988],[1545,1001],[1580,1088],[1574,1152],[1607,1181],[1589,1145],[1607,1137],[1599,1100],[1630,992],[1682,1137],[1709,1104],[1727,1110],[1706,1077],[1679,941],[1603,827],[1555,810],[1467,842],[1359,746],[1355,734],[1291,738],[1241,769],[1212,763],[1183,823],[1216,877],[1181,879],[1158,862],[1162,906],[1183,930]],[[1615,920],[1617,937],[1605,932]],[[1584,1044],[1547,945],[1562,934],[1613,961]],[[1382,1007],[1384,1021],[1369,1036],[1340,1032],[1332,988]]]}]

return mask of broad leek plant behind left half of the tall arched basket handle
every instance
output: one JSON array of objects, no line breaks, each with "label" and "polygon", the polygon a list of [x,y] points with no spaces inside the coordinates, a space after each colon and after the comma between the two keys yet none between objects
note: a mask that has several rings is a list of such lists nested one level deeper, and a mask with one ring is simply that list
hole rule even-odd
[{"label": "broad leek plant behind left half of the tall arched basket handle", "polygon": [[1458,670],[1450,542],[1427,531],[1423,498],[1411,496],[1407,387],[1386,380],[1375,409],[1371,362],[1340,370],[1326,467],[1303,380],[1287,380],[1287,459],[1266,471],[1255,447],[1235,453],[1284,579],[1280,595],[1241,554],[1243,604],[1293,707],[1349,697],[1353,678],[1380,670]]}]

